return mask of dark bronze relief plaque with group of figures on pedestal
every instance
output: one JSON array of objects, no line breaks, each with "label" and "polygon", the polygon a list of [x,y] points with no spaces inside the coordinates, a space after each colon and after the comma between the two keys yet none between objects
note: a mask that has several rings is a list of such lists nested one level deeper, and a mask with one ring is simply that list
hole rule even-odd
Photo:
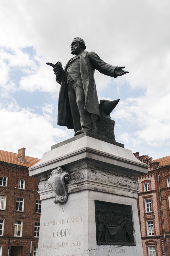
[{"label": "dark bronze relief plaque with group of figures on pedestal", "polygon": [[130,205],[95,201],[97,244],[135,245]]}]

